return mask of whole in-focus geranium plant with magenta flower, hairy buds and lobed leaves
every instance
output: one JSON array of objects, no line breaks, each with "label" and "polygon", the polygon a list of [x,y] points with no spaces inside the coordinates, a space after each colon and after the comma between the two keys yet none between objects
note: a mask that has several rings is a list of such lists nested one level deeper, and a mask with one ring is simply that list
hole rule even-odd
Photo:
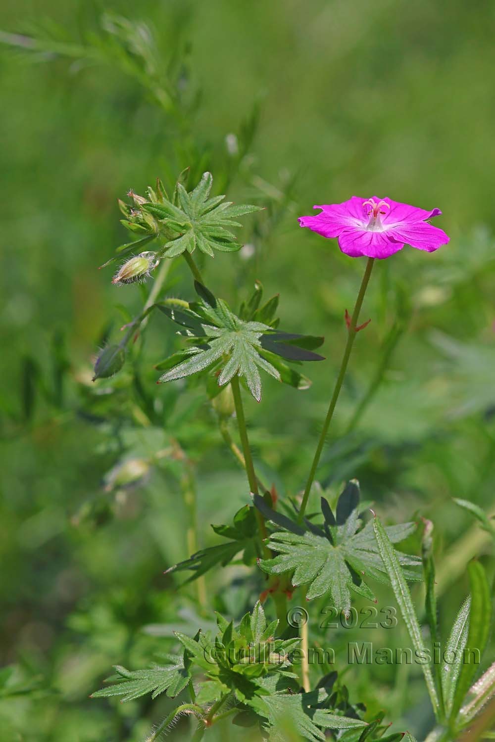
[{"label": "whole in-focus geranium plant with magenta flower, hairy buds and lobed leaves", "polygon": [[[118,696],[125,701],[148,693],[153,698],[165,693],[177,698],[176,707],[148,737],[150,742],[183,715],[189,715],[194,722],[194,740],[208,735],[212,726],[226,718],[235,725],[249,726],[258,735],[253,738],[272,741],[315,741],[328,735],[348,742],[378,738],[391,742],[404,735],[413,740],[405,730],[387,733],[382,715],[370,718],[364,706],[349,700],[347,691],[342,695],[343,686],[336,674],[321,674],[319,666],[312,666],[306,609],[294,604],[327,596],[336,614],[349,620],[353,595],[373,605],[373,582],[384,583],[395,594],[416,656],[427,656],[431,649],[428,645],[439,641],[432,524],[428,522],[423,529],[422,557],[415,557],[404,554],[394,544],[407,539],[417,524],[384,526],[378,513],[361,504],[360,487],[354,480],[347,482],[333,505],[325,493],[321,493],[319,509],[309,511],[308,505],[353,344],[358,332],[368,324],[359,324],[359,317],[373,264],[376,258],[398,252],[404,244],[433,252],[448,243],[447,234],[429,221],[441,212],[388,198],[353,197],[341,204],[315,207],[321,209],[318,216],[300,218],[301,226],[324,237],[337,237],[342,252],[350,257],[367,257],[367,263],[353,312],[346,310],[344,314],[347,344],[309,465],[306,487],[284,502],[275,498],[255,469],[243,394],[248,392],[261,401],[260,371],[295,390],[307,388],[309,380],[302,375],[301,365],[324,361],[315,352],[324,338],[282,331],[277,316],[278,296],[263,303],[260,284],[237,312],[217,298],[214,279],[210,275],[203,278],[193,254],[199,251],[213,257],[215,250],[238,249],[240,245],[231,230],[240,226],[238,217],[257,211],[257,207],[234,206],[221,195],[212,197],[209,173],[203,174],[190,191],[183,185],[185,182],[183,174],[172,197],[168,197],[158,180],[156,188],[148,188],[144,197],[131,193],[130,205],[121,202],[125,215],[122,223],[139,238],[119,248],[120,253],[135,256],[125,260],[114,283],[131,283],[148,278],[152,271],[156,273],[142,313],[128,324],[119,344],[100,352],[95,378],[114,375],[122,368],[129,341],[136,337],[140,324],[148,320],[151,312],[171,321],[164,326],[164,332],[178,327],[183,348],[157,363],[157,383],[183,384],[189,378],[196,384],[202,381],[206,396],[219,414],[226,444],[246,470],[246,505],[235,514],[232,524],[214,526],[217,545],[195,551],[189,559],[169,568],[168,573],[189,573],[186,582],[197,582],[197,600],[205,611],[208,597],[204,580],[212,569],[241,563],[258,573],[258,584],[264,587],[252,613],[240,623],[217,616],[216,634],[198,631],[193,637],[178,632],[176,654],[163,655],[160,663],[148,669],[116,666],[116,674],[94,697]],[[157,245],[155,249],[152,241]],[[147,250],[140,252],[144,244]],[[191,271],[191,301],[168,292],[161,296],[170,261],[179,256],[186,259]],[[240,448],[229,433],[232,418],[237,424]],[[433,670],[429,663],[421,665],[437,720],[431,741],[453,742],[495,686],[493,669],[472,685],[476,666],[459,660],[459,653],[466,647],[476,646],[482,651],[488,640],[488,579],[479,563],[470,566],[469,574],[471,596],[462,604],[448,640],[448,649],[457,659],[451,665],[444,660]],[[428,639],[420,628],[407,585],[423,579]],[[269,622],[266,614],[272,614]],[[310,616],[307,611],[306,616]],[[483,616],[481,622],[479,616]],[[184,700],[184,695],[189,695],[189,700]]]}]

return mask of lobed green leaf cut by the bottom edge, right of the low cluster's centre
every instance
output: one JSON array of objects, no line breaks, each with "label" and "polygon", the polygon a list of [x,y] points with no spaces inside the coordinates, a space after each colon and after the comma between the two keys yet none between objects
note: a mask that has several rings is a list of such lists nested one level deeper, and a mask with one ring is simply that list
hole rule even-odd
[{"label": "lobed green leaf cut by the bottom edge, right of the low cluster's centre", "polygon": [[324,729],[358,729],[367,726],[360,719],[332,714],[327,709],[314,708],[318,692],[294,695],[256,696],[246,703],[266,718],[270,742],[286,742],[285,730],[290,729],[306,740],[324,742]]}]

